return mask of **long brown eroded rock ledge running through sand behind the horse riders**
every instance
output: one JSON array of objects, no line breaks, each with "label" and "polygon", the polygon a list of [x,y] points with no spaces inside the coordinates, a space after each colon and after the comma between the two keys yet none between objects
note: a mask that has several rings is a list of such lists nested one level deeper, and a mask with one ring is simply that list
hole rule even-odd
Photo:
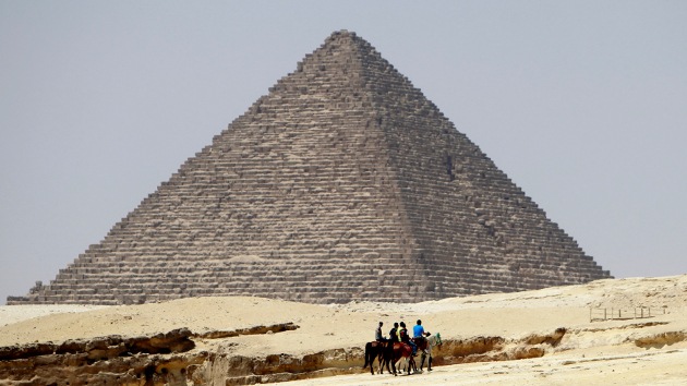
[{"label": "long brown eroded rock ledge running through sand behind the horse riders", "polygon": [[[360,373],[362,348],[340,348],[303,355],[263,358],[194,349],[193,339],[227,339],[243,334],[278,333],[293,324],[236,331],[193,334],[186,328],[153,337],[109,336],[0,348],[0,385],[249,385]],[[434,349],[434,364],[539,358],[558,345],[565,328],[520,339],[472,337],[445,340]]]}]

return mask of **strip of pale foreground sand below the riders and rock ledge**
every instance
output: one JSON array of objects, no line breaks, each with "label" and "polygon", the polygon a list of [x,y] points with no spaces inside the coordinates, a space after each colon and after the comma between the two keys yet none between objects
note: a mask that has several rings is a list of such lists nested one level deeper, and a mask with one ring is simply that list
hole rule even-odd
[{"label": "strip of pale foreground sand below the riders and rock ledge", "polygon": [[[455,364],[405,376],[340,375],[280,385],[685,385],[687,349],[579,352],[506,362]],[[269,384],[276,385],[276,384]]]}]

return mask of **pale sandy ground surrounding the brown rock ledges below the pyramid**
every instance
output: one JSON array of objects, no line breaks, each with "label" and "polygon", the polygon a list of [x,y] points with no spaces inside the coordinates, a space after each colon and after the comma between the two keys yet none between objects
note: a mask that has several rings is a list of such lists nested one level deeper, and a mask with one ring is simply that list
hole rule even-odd
[{"label": "pale sandy ground surrounding the brown rock ledges below the pyramid", "polygon": [[[242,355],[303,354],[363,347],[377,321],[425,328],[444,339],[497,336],[518,340],[532,334],[567,334],[538,359],[435,366],[432,373],[343,375],[289,385],[682,385],[687,384],[687,276],[600,280],[583,286],[454,298],[417,304],[354,302],[313,305],[260,298],[195,298],[131,306],[0,306],[0,347],[17,343],[141,336],[188,327],[194,333],[294,323],[300,328],[231,338],[213,348]],[[647,307],[637,311],[638,307]],[[590,321],[635,312],[651,317]],[[650,311],[649,311],[650,310]],[[639,347],[638,340],[646,345]],[[226,340],[224,340],[226,341]],[[219,346],[218,346],[219,345]]]}]

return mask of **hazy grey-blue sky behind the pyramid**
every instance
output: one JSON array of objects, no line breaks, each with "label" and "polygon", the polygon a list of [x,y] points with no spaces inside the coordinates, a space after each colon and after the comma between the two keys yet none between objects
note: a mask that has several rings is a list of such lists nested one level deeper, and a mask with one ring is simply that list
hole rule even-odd
[{"label": "hazy grey-blue sky behind the pyramid", "polygon": [[687,1],[0,0],[0,304],[49,282],[334,31],[604,269],[687,273]]}]

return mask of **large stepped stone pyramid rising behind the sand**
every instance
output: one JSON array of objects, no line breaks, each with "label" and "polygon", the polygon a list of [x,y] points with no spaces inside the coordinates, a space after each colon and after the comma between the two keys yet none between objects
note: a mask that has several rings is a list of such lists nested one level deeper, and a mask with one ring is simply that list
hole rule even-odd
[{"label": "large stepped stone pyramid rising behind the sand", "polygon": [[8,304],[417,302],[608,277],[420,89],[341,31],[50,285]]}]

